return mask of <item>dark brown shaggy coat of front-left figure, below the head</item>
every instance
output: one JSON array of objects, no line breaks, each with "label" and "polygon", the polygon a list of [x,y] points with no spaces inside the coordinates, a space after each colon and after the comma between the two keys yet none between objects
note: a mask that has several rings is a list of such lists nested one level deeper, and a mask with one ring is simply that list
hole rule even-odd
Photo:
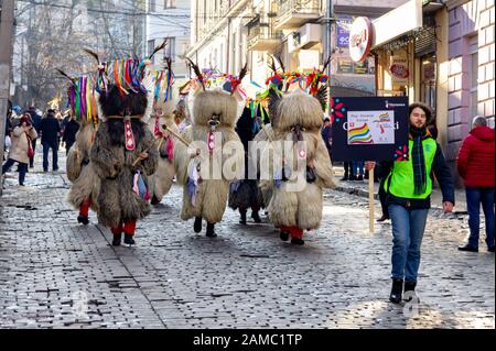
[{"label": "dark brown shaggy coat of front-left figure, below the head", "polygon": [[[110,228],[125,221],[141,219],[151,210],[148,201],[132,191],[132,183],[137,171],[141,171],[145,183],[147,176],[155,172],[158,151],[153,134],[145,124],[137,119],[131,122],[136,144],[133,151],[125,147],[125,125],[121,119],[109,119],[100,123],[90,151],[95,172],[101,179],[98,221]],[[148,153],[148,158],[134,165],[142,152]]]}]

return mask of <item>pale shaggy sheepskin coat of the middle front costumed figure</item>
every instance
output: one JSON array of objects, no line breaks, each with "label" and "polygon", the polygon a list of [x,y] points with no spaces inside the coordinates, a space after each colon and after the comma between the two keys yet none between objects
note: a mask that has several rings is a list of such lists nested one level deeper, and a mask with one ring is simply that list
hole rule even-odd
[{"label": "pale shaggy sheepskin coat of the middle front costumed figure", "polygon": [[[215,133],[222,135],[222,140],[216,139],[216,147],[224,146],[228,142],[235,142],[238,151],[235,155],[222,154],[222,160],[215,160],[208,150],[202,151],[201,157],[209,157],[209,174],[218,172],[224,167],[227,158],[229,162],[244,165],[244,149],[238,134],[235,131],[238,114],[238,101],[235,96],[222,90],[208,90],[196,92],[193,102],[193,124],[188,125],[182,133],[182,136],[187,142],[201,141],[207,143],[211,127],[208,120],[216,114],[219,116],[219,124],[215,129]],[[218,135],[218,134],[217,134]],[[236,180],[226,179],[222,174],[220,179],[203,179],[198,184],[198,190],[195,199],[195,205],[192,204],[192,198],[187,191],[187,178],[193,167],[194,162],[190,157],[194,153],[195,147],[186,147],[183,143],[175,143],[174,145],[174,165],[177,175],[177,182],[183,185],[183,208],[181,218],[187,220],[193,217],[202,217],[209,223],[217,223],[223,219],[226,209],[227,196],[229,194],[229,182]],[[236,157],[234,160],[233,157]],[[214,167],[217,171],[214,171]],[[220,169],[219,169],[219,168]],[[239,169],[238,169],[239,171]],[[242,169],[240,169],[241,172]],[[241,176],[242,177],[242,173]]]}]

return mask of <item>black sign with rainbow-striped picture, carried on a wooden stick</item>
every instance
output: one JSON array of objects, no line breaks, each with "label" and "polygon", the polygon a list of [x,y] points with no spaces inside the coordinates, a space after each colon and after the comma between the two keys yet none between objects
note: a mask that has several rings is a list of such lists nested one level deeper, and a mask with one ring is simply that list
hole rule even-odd
[{"label": "black sign with rainbow-striped picture, carried on a wooden stick", "polygon": [[408,160],[408,98],[331,99],[333,161]]}]

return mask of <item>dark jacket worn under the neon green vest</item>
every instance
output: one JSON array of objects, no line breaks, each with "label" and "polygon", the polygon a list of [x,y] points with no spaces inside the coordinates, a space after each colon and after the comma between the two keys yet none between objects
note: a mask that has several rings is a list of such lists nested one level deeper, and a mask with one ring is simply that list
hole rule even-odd
[{"label": "dark jacket worn under the neon green vest", "polygon": [[[435,175],[435,178],[438,179],[438,183],[441,187],[441,193],[443,195],[443,202],[450,201],[453,205],[455,204],[455,197],[454,197],[454,184],[453,178],[451,176],[450,168],[446,165],[446,162],[444,161],[443,153],[441,151],[441,146],[439,143],[435,143],[436,150],[434,155],[434,161],[432,163],[432,172],[430,174],[431,178]],[[392,168],[392,161],[391,162],[381,162],[379,164],[380,166],[380,174],[379,177],[386,177],[389,175]],[[425,199],[406,199],[396,197],[392,194],[389,194],[389,179],[386,179],[386,204],[389,205],[400,205],[406,208],[410,209],[421,209],[421,208],[430,208],[431,207],[431,196],[429,195]]]}]

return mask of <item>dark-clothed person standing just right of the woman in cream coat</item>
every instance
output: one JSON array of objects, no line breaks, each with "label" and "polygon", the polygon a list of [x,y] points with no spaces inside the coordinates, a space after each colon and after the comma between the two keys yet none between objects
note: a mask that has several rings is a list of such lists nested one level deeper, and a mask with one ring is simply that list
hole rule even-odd
[{"label": "dark-clothed person standing just right of the woman in cream coat", "polygon": [[42,119],[40,132],[43,145],[43,172],[48,172],[48,152],[52,150],[52,169],[58,171],[58,135],[61,124],[55,118],[55,110],[50,109],[46,117]]}]

